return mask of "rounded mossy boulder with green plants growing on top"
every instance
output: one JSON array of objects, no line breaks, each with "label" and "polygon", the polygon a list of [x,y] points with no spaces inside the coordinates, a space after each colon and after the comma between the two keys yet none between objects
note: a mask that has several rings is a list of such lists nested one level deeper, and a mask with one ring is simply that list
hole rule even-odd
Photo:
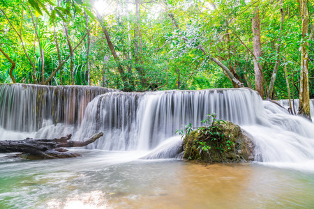
[{"label": "rounded mossy boulder with green plants growing on top", "polygon": [[[214,132],[214,135],[211,133]],[[216,132],[216,134],[215,134]],[[195,130],[184,138],[184,159],[199,162],[248,162],[254,160],[254,144],[239,125],[229,121],[209,130]]]}]

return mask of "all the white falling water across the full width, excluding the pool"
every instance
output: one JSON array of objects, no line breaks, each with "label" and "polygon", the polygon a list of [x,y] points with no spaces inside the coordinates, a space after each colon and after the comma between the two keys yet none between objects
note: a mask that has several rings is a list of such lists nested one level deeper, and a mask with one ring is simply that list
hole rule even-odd
[{"label": "all the white falling water across the full width, excluding the pool", "polygon": [[[93,93],[89,100],[100,94],[99,89],[89,93],[79,89],[82,93],[74,94]],[[255,91],[246,88],[109,92],[89,103],[82,100],[85,96],[70,100],[73,93],[68,90],[59,95],[53,92],[43,86],[0,86],[0,140],[52,138],[68,133],[80,140],[102,131],[104,137],[89,145],[89,149],[144,151],[146,154],[141,156],[145,159],[169,158],[179,154],[180,139],[174,132],[188,123],[200,126],[207,114],[215,112],[218,118],[237,123],[252,135],[255,161],[314,171],[313,123],[287,114],[276,104],[263,102]]]}]

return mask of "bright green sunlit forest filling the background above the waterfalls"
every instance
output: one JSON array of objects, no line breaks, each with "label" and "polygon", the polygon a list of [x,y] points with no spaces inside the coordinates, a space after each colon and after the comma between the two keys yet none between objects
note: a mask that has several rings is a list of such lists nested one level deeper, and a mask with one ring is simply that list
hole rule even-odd
[{"label": "bright green sunlit forest filling the background above the waterfalls", "polygon": [[299,98],[308,53],[313,98],[313,17],[304,0],[0,0],[0,82]]}]

